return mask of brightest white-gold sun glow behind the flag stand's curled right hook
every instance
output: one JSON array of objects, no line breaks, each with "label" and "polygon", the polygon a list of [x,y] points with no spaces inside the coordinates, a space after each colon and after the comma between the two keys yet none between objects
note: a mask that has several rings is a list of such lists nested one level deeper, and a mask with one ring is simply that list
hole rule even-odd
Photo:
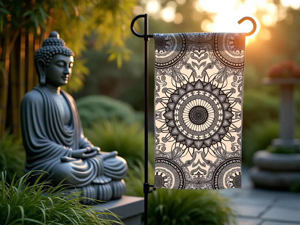
[{"label": "brightest white-gold sun glow behind the flag stand's curled right hook", "polygon": [[[250,21],[241,24],[237,21],[244,16],[251,16],[257,28],[253,35],[246,37],[247,44],[256,39],[261,23],[264,27],[274,26],[277,21],[286,18],[289,7],[300,7],[300,0],[280,0],[280,3],[274,4],[272,0],[197,0],[194,8],[199,13],[210,14],[210,19],[201,23],[201,29],[205,32],[250,32],[253,27]],[[266,29],[262,36],[267,40],[271,38]]]}]

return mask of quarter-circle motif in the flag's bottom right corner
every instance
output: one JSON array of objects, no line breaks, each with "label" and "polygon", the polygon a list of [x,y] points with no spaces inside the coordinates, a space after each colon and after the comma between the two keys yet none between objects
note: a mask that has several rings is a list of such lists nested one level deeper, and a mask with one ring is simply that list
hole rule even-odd
[{"label": "quarter-circle motif in the flag's bottom right corner", "polygon": [[213,188],[241,188],[241,158],[228,159],[216,168]]}]

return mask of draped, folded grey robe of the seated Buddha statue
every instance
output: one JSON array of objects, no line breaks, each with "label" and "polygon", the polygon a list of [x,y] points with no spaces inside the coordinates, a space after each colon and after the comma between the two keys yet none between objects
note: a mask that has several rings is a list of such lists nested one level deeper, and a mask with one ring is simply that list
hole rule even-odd
[{"label": "draped, folded grey robe of the seated Buddha statue", "polygon": [[[104,184],[121,180],[127,172],[126,161],[117,152],[100,152],[93,158],[75,159],[72,149],[93,147],[84,137],[74,99],[65,91],[61,94],[69,103],[71,123],[63,124],[58,106],[50,91],[37,85],[29,91],[21,103],[21,126],[26,149],[25,172],[42,170],[49,173],[45,179],[55,184],[69,177],[65,183],[75,187]],[[61,162],[61,158],[65,158]],[[69,161],[69,162],[65,162]],[[41,173],[41,172],[36,172]]]}]

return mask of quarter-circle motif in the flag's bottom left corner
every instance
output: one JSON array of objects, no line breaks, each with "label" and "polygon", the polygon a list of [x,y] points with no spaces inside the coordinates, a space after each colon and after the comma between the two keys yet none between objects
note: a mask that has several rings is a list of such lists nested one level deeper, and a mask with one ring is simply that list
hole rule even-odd
[{"label": "quarter-circle motif in the flag's bottom left corner", "polygon": [[184,189],[185,180],[182,168],[167,158],[156,158],[154,187]]}]

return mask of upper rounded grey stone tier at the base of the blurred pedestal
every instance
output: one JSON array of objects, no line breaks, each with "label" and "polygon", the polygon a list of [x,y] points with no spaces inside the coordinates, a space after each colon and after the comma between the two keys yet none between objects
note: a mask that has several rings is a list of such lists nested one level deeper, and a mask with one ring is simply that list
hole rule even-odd
[{"label": "upper rounded grey stone tier at the base of the blurred pedestal", "polygon": [[300,153],[279,154],[261,150],[253,155],[253,163],[266,171],[300,171]]}]

